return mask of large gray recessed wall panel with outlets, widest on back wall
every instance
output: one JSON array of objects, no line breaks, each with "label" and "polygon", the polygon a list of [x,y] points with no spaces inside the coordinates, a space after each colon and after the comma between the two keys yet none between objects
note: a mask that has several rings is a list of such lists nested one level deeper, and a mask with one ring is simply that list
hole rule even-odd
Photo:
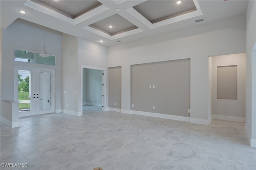
[{"label": "large gray recessed wall panel with outlets, widest on back wall", "polygon": [[189,117],[190,59],[132,65],[131,97],[134,111]]}]

